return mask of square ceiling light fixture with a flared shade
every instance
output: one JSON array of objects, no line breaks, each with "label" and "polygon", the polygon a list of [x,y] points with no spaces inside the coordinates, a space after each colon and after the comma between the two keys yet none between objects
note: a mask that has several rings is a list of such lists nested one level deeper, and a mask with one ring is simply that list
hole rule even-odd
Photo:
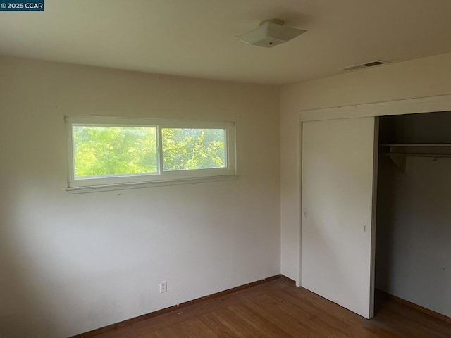
[{"label": "square ceiling light fixture with a flared shade", "polygon": [[284,21],[280,19],[270,19],[261,21],[260,27],[252,32],[239,35],[236,38],[245,42],[245,44],[254,44],[261,47],[273,47],[283,44],[307,30],[298,30],[297,28],[284,26]]}]

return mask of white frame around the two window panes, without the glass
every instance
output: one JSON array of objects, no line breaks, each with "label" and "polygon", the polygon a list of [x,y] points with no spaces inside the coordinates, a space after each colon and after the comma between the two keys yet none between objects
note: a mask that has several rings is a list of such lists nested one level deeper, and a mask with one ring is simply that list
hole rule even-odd
[{"label": "white frame around the two window panes, without the glass", "polygon": [[[66,134],[68,144],[68,187],[69,193],[97,192],[104,190],[131,189],[159,185],[186,184],[216,180],[233,180],[236,175],[235,123],[206,122],[189,120],[161,120],[150,118],[106,118],[92,116],[66,116]],[[118,126],[118,127],[155,127],[157,173],[111,175],[93,178],[75,178],[73,152],[73,126]],[[223,129],[225,130],[226,166],[223,168],[206,168],[190,170],[163,170],[163,149],[161,147],[161,130],[163,128]]]}]

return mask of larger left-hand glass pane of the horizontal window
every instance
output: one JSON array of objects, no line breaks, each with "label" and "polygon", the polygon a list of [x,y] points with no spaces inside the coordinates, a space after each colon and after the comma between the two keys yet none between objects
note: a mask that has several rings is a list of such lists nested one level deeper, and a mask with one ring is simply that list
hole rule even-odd
[{"label": "larger left-hand glass pane of the horizontal window", "polygon": [[73,125],[75,178],[158,173],[156,127]]}]

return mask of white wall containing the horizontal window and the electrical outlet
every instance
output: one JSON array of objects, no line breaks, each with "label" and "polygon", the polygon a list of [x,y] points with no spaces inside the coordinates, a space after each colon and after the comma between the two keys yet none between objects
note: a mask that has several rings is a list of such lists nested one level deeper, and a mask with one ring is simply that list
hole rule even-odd
[{"label": "white wall containing the horizontal window and the electrical outlet", "polygon": [[[0,58],[0,337],[67,337],[280,273],[279,99]],[[233,120],[240,178],[68,195],[65,115]]]}]

